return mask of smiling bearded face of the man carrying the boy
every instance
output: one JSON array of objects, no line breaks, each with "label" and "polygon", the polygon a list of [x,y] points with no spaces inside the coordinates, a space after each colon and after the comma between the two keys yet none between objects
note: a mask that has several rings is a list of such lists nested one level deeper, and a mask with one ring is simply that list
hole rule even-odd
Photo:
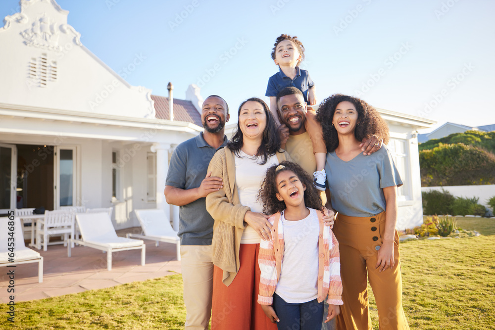
[{"label": "smiling bearded face of the man carrying the boy", "polygon": [[287,125],[291,135],[306,132],[306,103],[300,94],[290,94],[280,97],[277,102],[282,124]]}]

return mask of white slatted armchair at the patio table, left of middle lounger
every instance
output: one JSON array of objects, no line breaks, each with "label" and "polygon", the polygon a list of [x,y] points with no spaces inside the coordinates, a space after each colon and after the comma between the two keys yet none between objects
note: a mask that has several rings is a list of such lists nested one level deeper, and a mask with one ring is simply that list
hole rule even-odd
[{"label": "white slatted armchair at the patio table, left of middle lounger", "polygon": [[[72,209],[45,211],[45,218],[36,222],[36,248],[40,249],[43,237],[43,251],[48,245],[67,246],[70,237],[74,237],[74,212]],[[49,236],[63,235],[62,241],[49,242]],[[74,247],[74,246],[72,246]]]}]

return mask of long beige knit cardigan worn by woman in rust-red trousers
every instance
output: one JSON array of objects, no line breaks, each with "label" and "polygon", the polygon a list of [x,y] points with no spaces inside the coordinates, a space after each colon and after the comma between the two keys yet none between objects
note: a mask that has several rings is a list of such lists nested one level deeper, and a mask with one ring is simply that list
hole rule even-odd
[{"label": "long beige knit cardigan worn by woman in rust-red trousers", "polygon": [[[277,152],[279,163],[291,160],[286,151]],[[229,286],[239,271],[241,237],[247,223],[244,216],[250,208],[241,205],[236,185],[235,155],[228,147],[218,150],[210,161],[208,172],[223,179],[223,189],[206,196],[206,210],[215,220],[211,241],[213,264],[223,270],[222,282]]]}]

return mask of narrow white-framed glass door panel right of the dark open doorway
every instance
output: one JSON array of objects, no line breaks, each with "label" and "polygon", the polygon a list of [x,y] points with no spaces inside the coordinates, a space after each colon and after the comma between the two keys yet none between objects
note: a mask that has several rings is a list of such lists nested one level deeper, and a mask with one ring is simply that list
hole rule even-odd
[{"label": "narrow white-framed glass door panel right of the dark open doorway", "polygon": [[76,147],[57,146],[55,152],[55,209],[77,206],[76,202]]}]

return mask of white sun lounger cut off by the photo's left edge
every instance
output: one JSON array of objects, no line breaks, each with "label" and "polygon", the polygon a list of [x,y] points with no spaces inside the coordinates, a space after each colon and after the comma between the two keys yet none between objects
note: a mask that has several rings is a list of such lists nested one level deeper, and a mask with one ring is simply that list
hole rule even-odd
[{"label": "white sun lounger cut off by the photo's left edge", "polygon": [[[13,221],[14,225],[9,226],[8,222]],[[16,266],[16,265],[21,265],[21,264],[29,264],[33,262],[38,263],[38,282],[42,283],[43,282],[43,257],[36,251],[26,247],[24,245],[24,237],[22,236],[22,231],[21,231],[21,221],[19,218],[15,217],[14,220],[9,220],[8,217],[1,217],[0,218],[0,267],[5,267],[5,266]],[[8,228],[9,227],[14,227],[14,234],[13,236],[9,235]],[[12,239],[13,237],[13,239]],[[10,241],[8,240],[9,238]],[[9,262],[9,253],[12,253],[12,251],[9,251],[8,244],[12,243],[14,250],[14,262]],[[13,268],[12,268],[13,269]],[[5,272],[7,273],[7,272]]]}]

